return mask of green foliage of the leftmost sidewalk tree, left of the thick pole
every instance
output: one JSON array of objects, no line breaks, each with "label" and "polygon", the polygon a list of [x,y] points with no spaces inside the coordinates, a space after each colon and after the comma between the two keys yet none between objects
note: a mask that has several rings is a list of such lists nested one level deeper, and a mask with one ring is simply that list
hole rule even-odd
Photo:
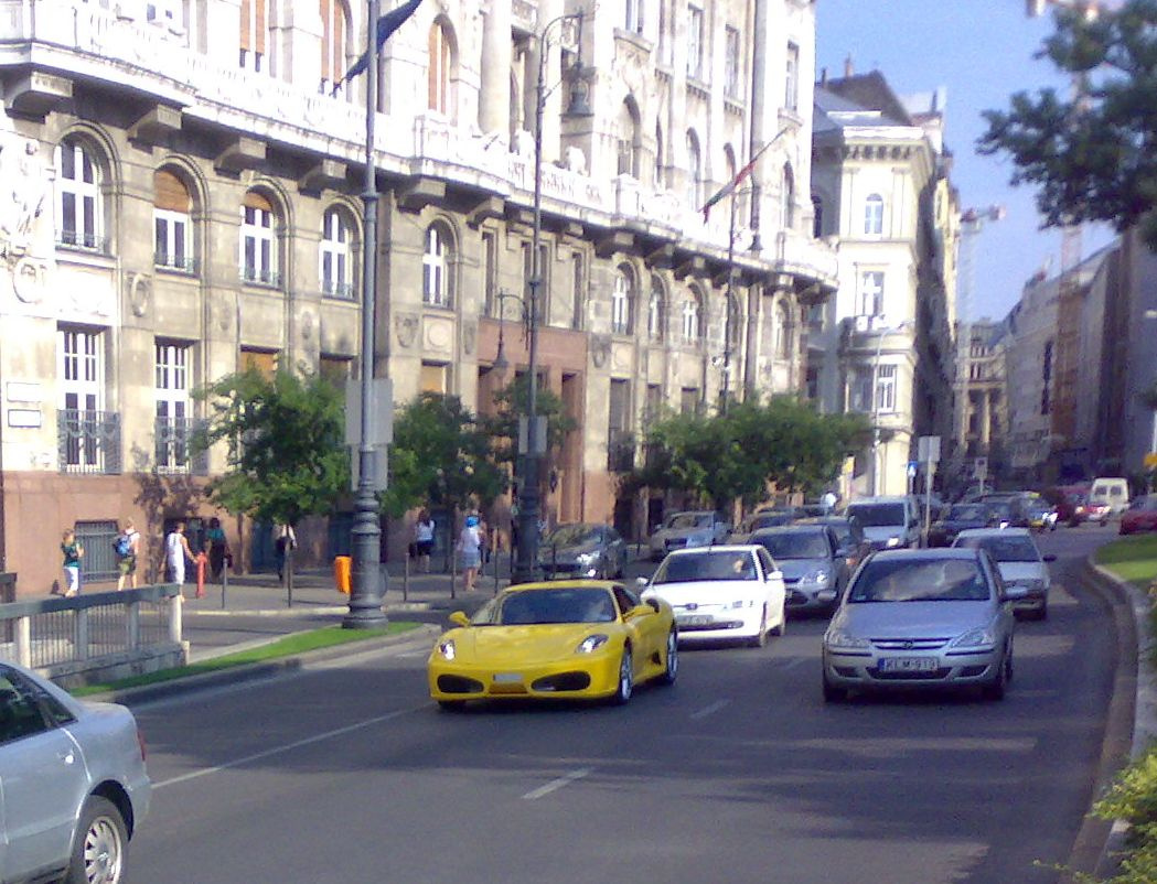
[{"label": "green foliage of the leftmost sidewalk tree, left of the thick pole", "polygon": [[208,406],[191,447],[223,443],[226,471],[209,499],[230,513],[297,525],[327,513],[349,483],[341,393],[326,379],[256,369],[206,385],[194,398]]}]

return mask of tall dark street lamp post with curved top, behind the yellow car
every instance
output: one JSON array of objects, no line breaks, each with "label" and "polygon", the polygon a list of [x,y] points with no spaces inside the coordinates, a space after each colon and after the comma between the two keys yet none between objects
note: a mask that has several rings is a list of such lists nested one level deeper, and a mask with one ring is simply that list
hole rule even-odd
[{"label": "tall dark street lamp post with curved top, behind the yellow car", "polygon": [[[526,327],[528,327],[528,394],[526,394],[526,431],[519,430],[519,447],[525,439],[523,455],[523,475],[518,485],[518,555],[514,569],[516,582],[533,580],[538,571],[538,521],[539,521],[539,462],[546,453],[545,418],[538,414],[538,303],[539,288],[543,284],[541,239],[543,239],[543,114],[546,110],[546,98],[553,86],[546,84],[546,58],[550,54],[550,31],[555,25],[577,22],[578,55],[574,74],[581,77],[582,68],[582,22],[583,13],[560,15],[547,22],[538,32],[538,79],[535,84],[535,202],[533,232],[531,235],[531,274],[526,283]],[[576,92],[573,98],[580,94]],[[568,109],[569,116],[589,116],[585,106],[578,107],[573,102]]]}]

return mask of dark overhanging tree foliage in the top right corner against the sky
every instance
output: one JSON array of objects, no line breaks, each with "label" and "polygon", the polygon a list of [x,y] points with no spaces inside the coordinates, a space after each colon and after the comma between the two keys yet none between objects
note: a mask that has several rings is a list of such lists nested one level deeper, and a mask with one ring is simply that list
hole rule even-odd
[{"label": "dark overhanging tree foliage in the top right corner against the sky", "polygon": [[1012,184],[1032,184],[1046,225],[1141,224],[1157,247],[1157,0],[1129,0],[1086,20],[1056,13],[1038,58],[1076,77],[1070,98],[1020,91],[1007,111],[986,111],[982,154],[1008,154]]}]

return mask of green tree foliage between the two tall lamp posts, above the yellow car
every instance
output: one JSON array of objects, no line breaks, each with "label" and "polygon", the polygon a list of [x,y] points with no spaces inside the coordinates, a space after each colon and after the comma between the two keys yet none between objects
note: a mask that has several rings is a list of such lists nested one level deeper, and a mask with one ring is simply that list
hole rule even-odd
[{"label": "green tree foliage between the two tall lamp posts, above the yellow car", "polygon": [[393,421],[386,513],[420,505],[455,507],[477,497],[488,504],[506,490],[491,438],[457,396],[421,393]]}]

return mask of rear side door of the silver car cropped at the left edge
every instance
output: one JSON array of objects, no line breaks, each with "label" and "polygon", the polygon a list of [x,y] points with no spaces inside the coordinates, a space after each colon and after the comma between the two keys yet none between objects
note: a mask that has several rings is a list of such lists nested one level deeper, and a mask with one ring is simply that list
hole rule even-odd
[{"label": "rear side door of the silver car cropped at the left edge", "polygon": [[35,685],[0,664],[0,792],[3,794],[6,879],[62,868],[88,787],[80,748],[50,722]]}]

